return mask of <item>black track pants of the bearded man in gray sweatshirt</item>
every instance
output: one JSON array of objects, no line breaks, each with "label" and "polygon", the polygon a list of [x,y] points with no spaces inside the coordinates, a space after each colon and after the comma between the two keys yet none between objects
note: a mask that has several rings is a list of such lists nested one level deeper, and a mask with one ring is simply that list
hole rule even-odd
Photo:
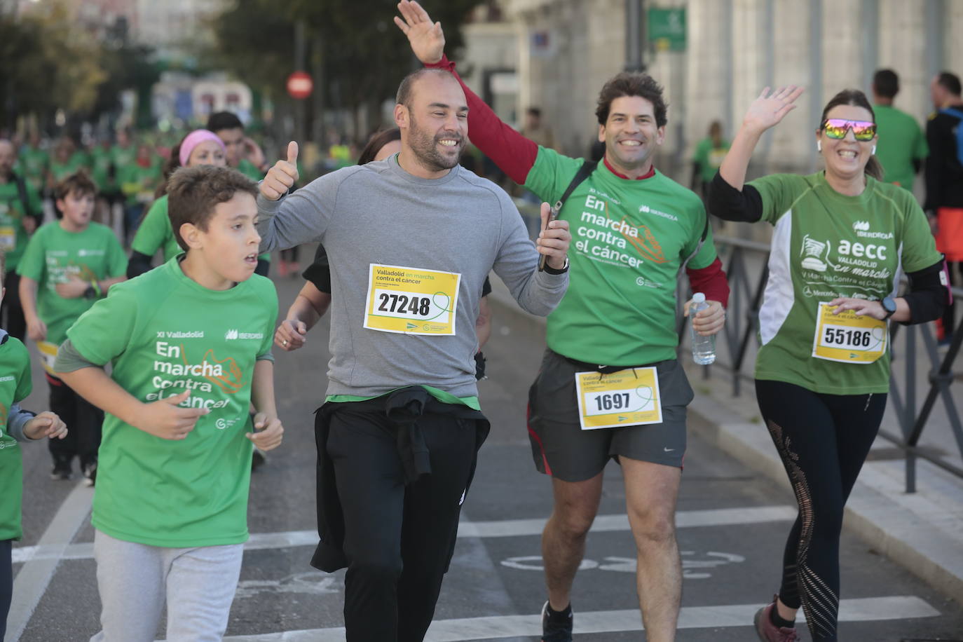
[{"label": "black track pants of the bearded man in gray sweatshirt", "polygon": [[455,549],[474,470],[474,421],[423,415],[431,472],[405,485],[398,426],[346,404],[330,420],[327,454],[344,511],[349,642],[420,642]]}]

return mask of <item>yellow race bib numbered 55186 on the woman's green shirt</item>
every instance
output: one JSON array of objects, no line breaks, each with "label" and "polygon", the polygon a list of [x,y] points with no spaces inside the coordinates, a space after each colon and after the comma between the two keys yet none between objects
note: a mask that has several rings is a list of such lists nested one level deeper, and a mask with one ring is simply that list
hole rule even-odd
[{"label": "yellow race bib numbered 55186 on the woman's green shirt", "polygon": [[886,352],[886,321],[852,310],[833,314],[834,306],[820,303],[813,336],[813,356],[827,361],[870,364]]}]

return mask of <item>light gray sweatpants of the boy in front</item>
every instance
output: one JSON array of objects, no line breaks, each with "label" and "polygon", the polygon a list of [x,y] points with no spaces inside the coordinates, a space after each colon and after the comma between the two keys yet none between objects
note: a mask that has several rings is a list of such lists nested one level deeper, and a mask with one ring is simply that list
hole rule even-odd
[{"label": "light gray sweatpants of the boy in front", "polygon": [[153,642],[165,597],[168,642],[220,642],[243,555],[243,544],[168,549],[97,530],[93,557],[103,630],[91,642]]}]

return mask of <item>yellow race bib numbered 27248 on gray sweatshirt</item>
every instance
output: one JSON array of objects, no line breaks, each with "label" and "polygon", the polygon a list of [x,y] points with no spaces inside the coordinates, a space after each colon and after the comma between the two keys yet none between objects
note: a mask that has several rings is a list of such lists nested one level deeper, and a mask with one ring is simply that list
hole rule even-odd
[{"label": "yellow race bib numbered 27248 on gray sweatshirt", "polygon": [[378,332],[453,335],[461,274],[371,264],[364,326]]}]

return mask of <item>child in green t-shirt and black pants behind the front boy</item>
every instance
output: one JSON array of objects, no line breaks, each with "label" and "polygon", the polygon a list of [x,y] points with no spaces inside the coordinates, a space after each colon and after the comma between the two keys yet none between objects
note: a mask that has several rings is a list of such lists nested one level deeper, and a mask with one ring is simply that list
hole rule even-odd
[{"label": "child in green t-shirt and black pants behind the front boy", "polygon": [[69,479],[76,456],[88,485],[96,475],[103,413],[74,393],[52,366],[70,324],[126,278],[126,258],[117,237],[106,225],[91,221],[96,193],[86,172],[61,181],[54,196],[62,218],[40,226],[16,268],[27,336],[37,342],[47,371],[50,408],[70,426],[69,437],[49,444],[51,476]]}]

